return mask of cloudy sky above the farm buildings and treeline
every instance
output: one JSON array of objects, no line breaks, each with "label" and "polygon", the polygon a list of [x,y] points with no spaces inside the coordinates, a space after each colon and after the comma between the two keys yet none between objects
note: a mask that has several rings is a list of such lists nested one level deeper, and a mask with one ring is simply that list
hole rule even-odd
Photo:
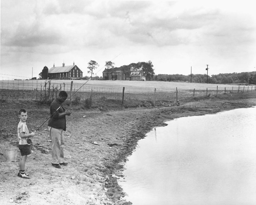
[{"label": "cloudy sky above the farm buildings and treeline", "polygon": [[[253,2],[253,1],[252,1]],[[152,61],[156,74],[256,70],[250,1],[1,0],[1,80],[90,60]],[[32,69],[33,68],[33,69]],[[19,76],[19,77],[16,77]]]}]

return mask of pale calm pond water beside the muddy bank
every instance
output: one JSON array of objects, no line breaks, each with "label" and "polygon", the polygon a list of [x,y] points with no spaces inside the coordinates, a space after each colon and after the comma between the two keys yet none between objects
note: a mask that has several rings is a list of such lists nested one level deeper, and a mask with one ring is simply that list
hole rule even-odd
[{"label": "pale calm pond water beside the muddy bank", "polygon": [[182,117],[138,142],[119,185],[134,205],[256,204],[256,107]]}]

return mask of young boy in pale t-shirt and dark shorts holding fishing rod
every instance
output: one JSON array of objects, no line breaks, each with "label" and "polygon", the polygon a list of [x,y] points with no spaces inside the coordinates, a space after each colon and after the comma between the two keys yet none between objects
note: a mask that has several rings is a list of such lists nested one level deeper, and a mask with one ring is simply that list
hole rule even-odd
[{"label": "young boy in pale t-shirt and dark shorts holding fishing rod", "polygon": [[27,111],[24,109],[21,109],[19,111],[19,117],[20,122],[18,124],[17,128],[17,135],[19,138],[19,149],[20,149],[20,171],[18,173],[18,176],[25,179],[30,179],[30,177],[25,172],[25,163],[27,156],[31,154],[30,146],[27,143],[28,137],[33,137],[35,135],[34,132],[29,133],[28,127],[26,125],[26,120],[28,118]]}]

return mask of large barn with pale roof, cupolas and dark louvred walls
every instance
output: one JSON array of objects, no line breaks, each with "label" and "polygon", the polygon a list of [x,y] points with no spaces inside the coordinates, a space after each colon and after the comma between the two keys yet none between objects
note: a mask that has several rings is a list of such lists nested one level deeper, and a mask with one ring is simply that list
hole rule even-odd
[{"label": "large barn with pale roof, cupolas and dark louvred walls", "polygon": [[78,66],[73,63],[72,66],[62,66],[55,67],[48,70],[48,79],[81,79],[83,77],[83,72],[78,68]]}]

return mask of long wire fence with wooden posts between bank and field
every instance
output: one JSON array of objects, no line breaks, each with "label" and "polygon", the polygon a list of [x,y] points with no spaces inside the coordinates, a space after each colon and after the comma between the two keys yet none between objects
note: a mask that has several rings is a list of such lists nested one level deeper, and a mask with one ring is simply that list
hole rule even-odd
[{"label": "long wire fence with wooden posts between bank and field", "polygon": [[12,80],[0,81],[0,100],[35,100],[42,101],[46,97],[54,99],[59,91],[66,91],[71,99],[86,100],[93,97],[98,99],[141,100],[141,101],[178,101],[188,97],[203,97],[229,93],[255,92],[256,86],[227,86],[211,85],[202,89],[163,89],[163,88],[132,88],[114,87],[97,84],[94,86],[73,83],[73,81],[43,81],[43,80]]}]

